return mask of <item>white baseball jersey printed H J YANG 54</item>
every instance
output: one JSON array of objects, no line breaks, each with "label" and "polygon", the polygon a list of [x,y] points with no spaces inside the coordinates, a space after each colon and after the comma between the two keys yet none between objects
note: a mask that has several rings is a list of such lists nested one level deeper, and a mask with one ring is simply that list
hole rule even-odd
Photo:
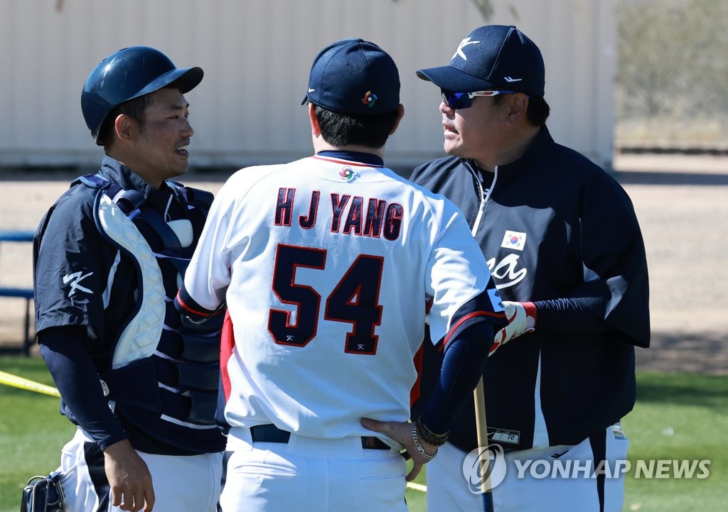
[{"label": "white baseball jersey printed H J YANG 54", "polygon": [[454,204],[322,156],[232,175],[184,285],[201,308],[227,303],[227,422],[323,439],[371,435],[361,417],[408,419],[426,302],[435,342],[502,311]]}]

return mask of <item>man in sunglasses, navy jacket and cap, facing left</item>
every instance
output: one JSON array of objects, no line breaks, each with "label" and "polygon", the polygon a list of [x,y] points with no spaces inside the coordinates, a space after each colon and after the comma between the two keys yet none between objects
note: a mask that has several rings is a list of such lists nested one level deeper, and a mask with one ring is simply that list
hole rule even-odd
[{"label": "man in sunglasses, navy jacket and cap, facing left", "polygon": [[[449,156],[411,180],[462,209],[510,320],[484,375],[490,448],[506,463],[492,465],[495,508],[619,511],[620,420],[635,403],[634,347],[649,346],[633,205],[603,169],[554,142],[542,55],[517,28],[476,28],[449,65],[417,75],[441,89]],[[467,404],[428,466],[429,510],[478,510],[466,459],[477,447]]]}]

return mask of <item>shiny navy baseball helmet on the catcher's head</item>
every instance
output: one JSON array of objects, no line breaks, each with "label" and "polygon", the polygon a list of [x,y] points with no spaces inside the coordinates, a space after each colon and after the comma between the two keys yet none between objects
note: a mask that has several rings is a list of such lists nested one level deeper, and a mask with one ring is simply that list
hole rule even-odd
[{"label": "shiny navy baseball helmet on the catcher's head", "polygon": [[108,113],[127,100],[162,89],[172,82],[188,92],[202,81],[202,68],[178,69],[170,57],[150,47],[128,47],[114,52],[92,69],[83,92],[81,111],[97,144]]}]

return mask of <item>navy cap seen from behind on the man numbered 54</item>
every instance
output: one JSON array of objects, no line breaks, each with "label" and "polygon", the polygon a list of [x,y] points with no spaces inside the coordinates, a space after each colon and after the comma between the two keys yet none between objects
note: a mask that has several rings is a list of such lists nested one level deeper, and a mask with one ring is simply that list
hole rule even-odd
[{"label": "navy cap seen from behind on the man numbered 54", "polygon": [[341,39],[319,52],[301,105],[349,116],[377,116],[400,104],[400,75],[387,52],[363,39]]}]

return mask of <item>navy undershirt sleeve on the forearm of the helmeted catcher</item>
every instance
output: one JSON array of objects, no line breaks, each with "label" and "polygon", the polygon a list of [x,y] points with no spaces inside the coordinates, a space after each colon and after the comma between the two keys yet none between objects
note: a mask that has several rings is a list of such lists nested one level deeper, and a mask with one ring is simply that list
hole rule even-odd
[{"label": "navy undershirt sleeve on the forearm of the helmeted catcher", "polygon": [[108,407],[98,373],[83,346],[85,327],[52,327],[39,332],[41,356],[74,420],[100,449],[127,439]]}]

